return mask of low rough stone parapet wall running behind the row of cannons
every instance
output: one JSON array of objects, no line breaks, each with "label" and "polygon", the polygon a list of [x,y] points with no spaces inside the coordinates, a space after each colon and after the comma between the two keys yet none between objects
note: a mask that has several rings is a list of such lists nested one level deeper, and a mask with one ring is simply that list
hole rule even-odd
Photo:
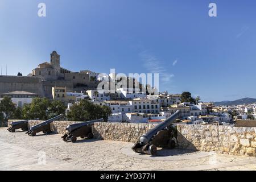
[{"label": "low rough stone parapet wall running behind the row of cannons", "polygon": [[[10,123],[17,120],[9,120]],[[34,126],[42,121],[30,121]],[[54,121],[51,128],[57,134],[65,134],[67,125],[74,121]],[[137,142],[138,138],[156,124],[147,123],[95,123],[94,137],[104,140]],[[220,154],[256,156],[256,127],[230,127],[209,125],[177,125],[179,148],[217,152]]]}]

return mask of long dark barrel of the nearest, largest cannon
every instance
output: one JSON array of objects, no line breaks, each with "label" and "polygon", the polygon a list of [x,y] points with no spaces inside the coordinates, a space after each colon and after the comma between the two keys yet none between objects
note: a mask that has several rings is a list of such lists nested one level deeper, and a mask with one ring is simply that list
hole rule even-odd
[{"label": "long dark barrel of the nearest, largest cannon", "polygon": [[177,110],[176,113],[172,114],[169,118],[164,120],[162,123],[159,123],[158,126],[154,127],[154,129],[148,131],[147,133],[143,134],[141,137],[139,137],[139,143],[144,146],[147,142],[150,141],[152,137],[154,137],[155,134],[158,133],[158,131],[165,129],[167,126],[170,126],[172,122],[175,121],[175,119],[178,118],[180,111]]}]

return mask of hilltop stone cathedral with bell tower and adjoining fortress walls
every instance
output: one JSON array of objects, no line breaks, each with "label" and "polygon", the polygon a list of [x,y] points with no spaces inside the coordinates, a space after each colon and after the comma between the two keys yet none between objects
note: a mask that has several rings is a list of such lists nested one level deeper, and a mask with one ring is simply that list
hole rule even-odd
[{"label": "hilltop stone cathedral with bell tower and adjoining fortress walls", "polygon": [[51,53],[50,63],[39,64],[28,76],[0,76],[0,93],[26,91],[52,98],[52,87],[66,87],[67,92],[85,92],[97,88],[86,72],[71,72],[60,67],[60,55]]}]

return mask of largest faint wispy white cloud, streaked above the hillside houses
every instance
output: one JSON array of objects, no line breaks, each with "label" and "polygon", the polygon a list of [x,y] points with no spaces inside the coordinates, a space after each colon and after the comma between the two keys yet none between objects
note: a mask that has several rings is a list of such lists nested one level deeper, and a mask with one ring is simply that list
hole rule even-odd
[{"label": "largest faint wispy white cloud, streaked above the hillside houses", "polygon": [[174,77],[174,74],[169,73],[164,67],[162,61],[157,57],[149,53],[148,51],[142,51],[139,53],[143,61],[143,67],[147,69],[150,73],[159,73],[159,79],[162,82],[170,82],[171,78]]}]

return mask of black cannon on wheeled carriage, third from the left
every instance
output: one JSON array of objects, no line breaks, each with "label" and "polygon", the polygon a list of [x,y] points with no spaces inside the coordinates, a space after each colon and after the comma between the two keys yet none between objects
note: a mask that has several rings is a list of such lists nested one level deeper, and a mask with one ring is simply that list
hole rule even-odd
[{"label": "black cannon on wheeled carriage, third from the left", "polygon": [[71,142],[75,143],[77,140],[77,137],[81,138],[93,138],[92,133],[92,125],[94,125],[95,122],[102,122],[104,119],[97,119],[93,121],[87,121],[82,123],[76,123],[73,125],[68,125],[66,128],[66,134],[61,137],[65,142],[68,142],[68,140],[71,140]]}]

